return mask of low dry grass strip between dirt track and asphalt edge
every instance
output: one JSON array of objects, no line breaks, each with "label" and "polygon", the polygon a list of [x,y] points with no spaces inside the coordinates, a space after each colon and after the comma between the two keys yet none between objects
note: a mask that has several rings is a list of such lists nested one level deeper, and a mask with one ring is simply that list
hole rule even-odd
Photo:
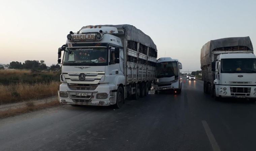
[{"label": "low dry grass strip between dirt track and asphalt edge", "polygon": [[0,118],[5,118],[9,116],[19,115],[39,109],[44,109],[48,107],[54,107],[60,105],[60,102],[56,99],[55,101],[40,104],[40,105],[34,105],[33,102],[29,102],[26,104],[26,107],[18,108],[18,109],[9,109],[6,111],[0,112]]}]

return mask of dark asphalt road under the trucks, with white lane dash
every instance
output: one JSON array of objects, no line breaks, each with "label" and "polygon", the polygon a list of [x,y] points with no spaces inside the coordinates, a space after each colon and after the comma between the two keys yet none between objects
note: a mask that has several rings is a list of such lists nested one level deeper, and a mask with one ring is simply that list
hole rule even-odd
[{"label": "dark asphalt road under the trucks, with white lane dash", "polygon": [[256,150],[256,104],[215,101],[202,81],[121,109],[63,105],[0,119],[0,150]]}]

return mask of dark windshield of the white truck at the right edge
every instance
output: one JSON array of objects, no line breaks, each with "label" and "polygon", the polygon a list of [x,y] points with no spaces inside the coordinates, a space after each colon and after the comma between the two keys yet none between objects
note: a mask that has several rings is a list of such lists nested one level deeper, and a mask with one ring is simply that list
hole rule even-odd
[{"label": "dark windshield of the white truck at the right edge", "polygon": [[256,73],[256,59],[221,59],[222,73]]}]

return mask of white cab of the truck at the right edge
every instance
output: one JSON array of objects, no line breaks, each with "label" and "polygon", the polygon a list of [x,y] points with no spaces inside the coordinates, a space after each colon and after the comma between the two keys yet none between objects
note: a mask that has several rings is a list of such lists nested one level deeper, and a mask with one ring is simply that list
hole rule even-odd
[{"label": "white cab of the truck at the right edge", "polygon": [[227,53],[212,63],[216,97],[256,98],[256,57]]}]

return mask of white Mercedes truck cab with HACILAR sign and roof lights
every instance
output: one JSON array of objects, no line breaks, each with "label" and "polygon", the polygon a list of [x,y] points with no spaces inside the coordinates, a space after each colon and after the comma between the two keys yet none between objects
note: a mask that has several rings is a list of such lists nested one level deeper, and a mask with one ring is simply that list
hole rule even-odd
[{"label": "white Mercedes truck cab with HACILAR sign and roof lights", "polygon": [[117,33],[115,27],[88,27],[67,36],[66,44],[59,50],[59,54],[64,51],[62,104],[116,103],[117,87],[125,83],[123,45],[113,35]]}]

